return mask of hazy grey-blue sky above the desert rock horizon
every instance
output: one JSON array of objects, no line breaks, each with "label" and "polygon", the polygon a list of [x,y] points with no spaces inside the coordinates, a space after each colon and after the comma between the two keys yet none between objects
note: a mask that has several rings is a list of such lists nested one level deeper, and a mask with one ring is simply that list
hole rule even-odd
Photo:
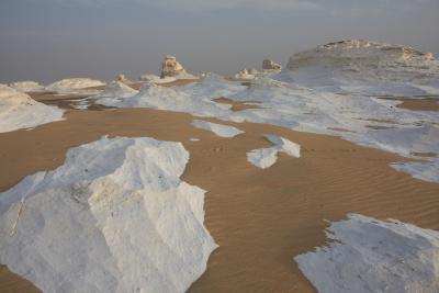
[{"label": "hazy grey-blue sky above the desert rock horizon", "polygon": [[319,44],[369,38],[439,55],[439,0],[0,0],[0,82],[285,64]]}]

